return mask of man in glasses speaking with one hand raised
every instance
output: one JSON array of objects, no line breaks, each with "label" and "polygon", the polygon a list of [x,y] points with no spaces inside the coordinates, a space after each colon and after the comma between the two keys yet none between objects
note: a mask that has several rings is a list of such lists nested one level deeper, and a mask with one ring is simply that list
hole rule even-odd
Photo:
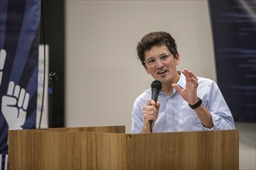
[{"label": "man in glasses speaking with one hand raised", "polygon": [[209,131],[234,129],[234,118],[216,82],[177,70],[175,39],[168,32],[150,32],[137,45],[148,74],[161,82],[157,101],[151,88],[134,101],[132,132]]}]

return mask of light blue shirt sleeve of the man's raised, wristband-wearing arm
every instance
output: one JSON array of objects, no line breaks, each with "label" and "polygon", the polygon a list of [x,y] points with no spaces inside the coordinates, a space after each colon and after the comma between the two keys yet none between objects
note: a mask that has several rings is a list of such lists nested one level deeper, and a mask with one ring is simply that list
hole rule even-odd
[{"label": "light blue shirt sleeve of the man's raised, wristband-wearing arm", "polygon": [[214,127],[204,128],[204,130],[232,130],[235,129],[234,118],[230,112],[230,108],[220,92],[220,88],[215,82],[212,83],[208,104],[206,108],[209,110],[213,118]]}]

